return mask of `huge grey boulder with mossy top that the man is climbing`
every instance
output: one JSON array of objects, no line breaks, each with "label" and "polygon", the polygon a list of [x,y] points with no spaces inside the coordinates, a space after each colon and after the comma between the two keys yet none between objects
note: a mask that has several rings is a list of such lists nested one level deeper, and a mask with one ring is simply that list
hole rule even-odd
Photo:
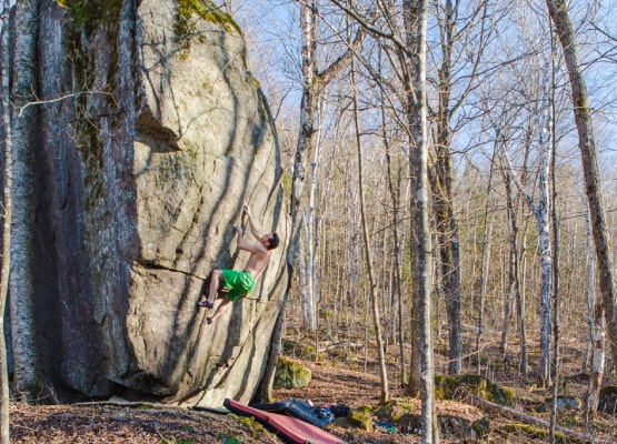
[{"label": "huge grey boulder with mossy top that the man is climbing", "polygon": [[[43,0],[40,13],[40,97],[64,98],[40,109],[36,134],[47,392],[246,403],[287,283],[289,224],[241,31],[202,1],[81,3]],[[208,325],[196,302],[210,270],[248,259],[232,239],[243,204],[281,246],[250,299]]]}]

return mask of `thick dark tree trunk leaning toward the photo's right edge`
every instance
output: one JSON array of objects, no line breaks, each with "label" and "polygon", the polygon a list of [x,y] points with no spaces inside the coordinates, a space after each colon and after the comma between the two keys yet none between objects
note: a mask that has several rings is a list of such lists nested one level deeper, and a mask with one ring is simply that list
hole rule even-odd
[{"label": "thick dark tree trunk leaning toward the photo's right edge", "polygon": [[598,173],[598,161],[594,130],[591,127],[591,111],[588,104],[587,85],[583,77],[583,70],[578,62],[574,30],[571,28],[567,3],[564,0],[546,0],[548,11],[557,36],[564,50],[564,58],[568,69],[571,88],[571,100],[574,117],[578,132],[578,148],[583,162],[585,178],[585,190],[589,203],[591,228],[594,233],[594,245],[596,259],[600,272],[599,287],[605,310],[606,327],[611,344],[613,365],[617,364],[617,306],[615,270],[613,256],[609,250],[609,233],[606,225],[604,201],[600,192],[600,179]]}]

